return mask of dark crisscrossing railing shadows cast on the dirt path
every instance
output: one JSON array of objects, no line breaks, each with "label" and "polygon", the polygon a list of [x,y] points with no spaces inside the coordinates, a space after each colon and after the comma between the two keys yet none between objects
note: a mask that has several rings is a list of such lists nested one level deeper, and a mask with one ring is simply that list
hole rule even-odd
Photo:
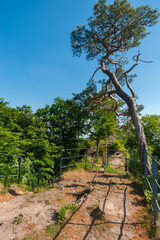
[{"label": "dark crisscrossing railing shadows cast on the dirt path", "polygon": [[[93,171],[91,171],[93,173]],[[100,173],[99,171],[94,171],[95,173]],[[69,219],[62,225],[62,227],[60,228],[60,230],[58,231],[58,233],[56,234],[56,236],[53,238],[53,240],[56,240],[57,237],[59,236],[59,234],[61,233],[61,231],[64,229],[64,227],[68,224],[68,225],[80,225],[80,226],[87,226],[88,227],[88,231],[86,232],[83,240],[86,240],[88,235],[90,234],[90,232],[92,231],[92,228],[94,226],[104,226],[104,228],[107,226],[105,224],[115,224],[115,225],[120,225],[120,228],[119,228],[119,235],[118,235],[118,238],[117,240],[121,240],[123,235],[124,235],[124,226],[125,225],[128,225],[128,226],[136,226],[136,225],[141,225],[141,222],[131,222],[131,223],[125,223],[126,221],[126,215],[127,215],[127,210],[126,210],[126,191],[127,191],[127,187],[129,186],[132,190],[130,192],[130,194],[135,194],[135,195],[142,195],[142,191],[140,191],[139,189],[137,189],[137,184],[135,182],[129,182],[129,183],[124,183],[124,182],[117,182],[115,181],[115,178],[119,178],[119,179],[127,179],[127,175],[119,175],[119,174],[103,174],[103,175],[98,175],[97,178],[111,178],[110,181],[108,183],[104,183],[104,182],[101,182],[101,181],[95,181],[95,177],[97,176],[97,174],[93,177],[92,181],[91,182],[88,182],[89,184],[92,184],[92,186],[94,185],[102,185],[102,186],[106,186],[108,187],[107,189],[107,193],[105,195],[105,198],[104,198],[104,202],[103,202],[103,207],[102,207],[102,211],[100,210],[100,208],[96,208],[96,209],[93,209],[93,211],[90,213],[90,216],[92,218],[91,220],[91,223],[90,224],[83,224],[83,223],[72,223],[71,222],[71,219],[73,217],[73,215],[82,207],[82,205],[84,204],[84,202],[87,200],[88,198],[88,195],[94,190],[88,190],[86,196],[85,196],[85,199],[82,201],[82,203],[80,204],[80,206],[77,208],[76,212],[74,212],[70,217]],[[115,182],[114,182],[115,181]],[[75,184],[75,186],[77,186],[78,184]],[[111,190],[111,187],[112,186],[125,186],[125,189],[124,189],[124,192],[123,192],[123,219],[121,222],[118,222],[118,221],[108,221],[106,220],[104,217],[104,210],[105,210],[105,205],[106,205],[106,202],[107,202],[107,198],[108,198],[108,195],[110,193],[110,190]],[[71,186],[74,186],[71,185]],[[71,187],[69,186],[69,187]],[[79,185],[78,185],[79,186]],[[83,185],[81,185],[83,186]],[[84,187],[86,187],[84,185]],[[81,195],[82,196],[82,195]],[[78,195],[77,195],[78,197]],[[133,205],[135,206],[142,206],[144,205],[144,202],[143,200],[138,200],[135,199],[135,201],[132,203]],[[101,218],[102,217],[102,218]],[[97,219],[102,219],[102,221],[99,221],[97,222]]]}]

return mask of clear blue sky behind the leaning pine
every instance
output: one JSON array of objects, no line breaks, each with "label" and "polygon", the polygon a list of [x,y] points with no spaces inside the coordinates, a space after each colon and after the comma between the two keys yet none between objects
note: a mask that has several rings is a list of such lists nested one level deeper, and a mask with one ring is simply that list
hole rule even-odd
[{"label": "clear blue sky behind the leaning pine", "polygon": [[[0,97],[10,106],[30,105],[33,111],[60,96],[79,93],[97,63],[73,58],[70,33],[85,24],[96,0],[5,0],[0,2]],[[112,2],[111,0],[108,3]],[[131,0],[160,10],[159,0]],[[129,57],[142,52],[144,60],[132,84],[145,106],[143,114],[160,114],[160,23],[150,29]],[[98,75],[97,75],[98,77]]]}]

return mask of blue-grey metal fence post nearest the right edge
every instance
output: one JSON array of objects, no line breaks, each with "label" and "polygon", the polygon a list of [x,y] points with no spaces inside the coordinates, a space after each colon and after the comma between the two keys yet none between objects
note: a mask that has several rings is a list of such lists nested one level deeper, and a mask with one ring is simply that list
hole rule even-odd
[{"label": "blue-grey metal fence post nearest the right edge", "polygon": [[158,217],[158,186],[155,180],[158,180],[157,176],[157,159],[155,157],[152,157],[152,188],[153,188],[153,214],[154,214],[154,220],[157,220]]}]

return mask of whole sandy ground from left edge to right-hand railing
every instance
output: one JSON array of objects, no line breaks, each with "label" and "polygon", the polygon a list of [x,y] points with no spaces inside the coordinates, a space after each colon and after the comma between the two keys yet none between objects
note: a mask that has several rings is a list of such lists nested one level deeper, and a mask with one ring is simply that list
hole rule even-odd
[{"label": "whole sandy ground from left edge to right-hand railing", "polygon": [[[88,186],[89,192],[78,199]],[[77,170],[66,173],[56,188],[0,203],[0,240],[21,239],[35,230],[38,234],[56,223],[62,206],[75,202],[78,209],[52,238],[40,234],[27,239],[149,239],[139,217],[145,207],[143,196],[131,180],[120,174]]]}]

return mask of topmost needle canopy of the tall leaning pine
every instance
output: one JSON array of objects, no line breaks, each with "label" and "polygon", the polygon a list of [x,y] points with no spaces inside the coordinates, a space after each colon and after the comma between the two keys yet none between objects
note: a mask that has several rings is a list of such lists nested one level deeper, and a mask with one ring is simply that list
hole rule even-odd
[{"label": "topmost needle canopy of the tall leaning pine", "polygon": [[[86,58],[114,56],[140,44],[149,32],[147,27],[157,23],[158,11],[150,6],[134,8],[127,0],[115,0],[107,5],[99,0],[87,25],[77,26],[71,33],[74,56],[84,51]],[[108,59],[109,61],[109,59]]]}]

